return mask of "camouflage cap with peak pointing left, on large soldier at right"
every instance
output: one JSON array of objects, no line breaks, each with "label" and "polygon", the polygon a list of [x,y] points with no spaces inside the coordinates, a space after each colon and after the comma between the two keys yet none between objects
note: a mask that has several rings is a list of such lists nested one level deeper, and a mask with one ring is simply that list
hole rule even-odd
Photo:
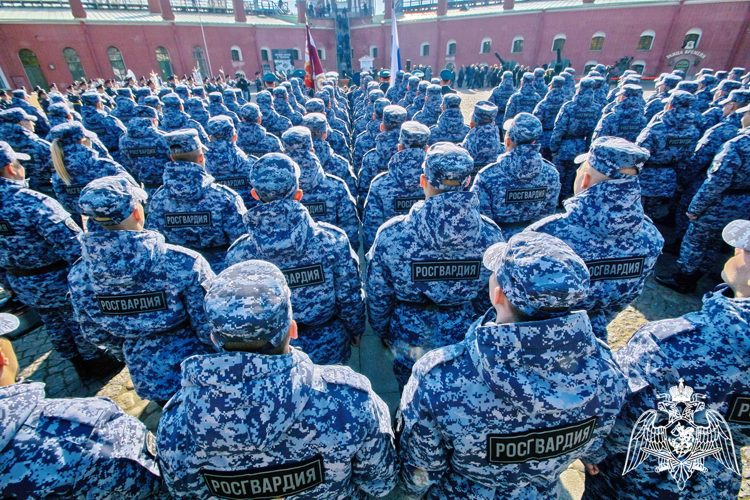
[{"label": "camouflage cap with peak pointing left, on large soldier at right", "polygon": [[623,168],[634,168],[641,172],[643,164],[651,154],[647,149],[636,146],[632,142],[620,137],[599,137],[588,153],[578,155],[576,163],[588,160],[589,165],[610,179],[623,179],[628,174],[620,172]]}]

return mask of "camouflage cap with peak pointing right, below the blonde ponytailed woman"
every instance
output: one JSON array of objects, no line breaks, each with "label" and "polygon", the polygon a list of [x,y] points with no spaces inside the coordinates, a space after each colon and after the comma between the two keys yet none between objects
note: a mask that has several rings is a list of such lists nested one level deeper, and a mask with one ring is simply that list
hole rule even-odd
[{"label": "camouflage cap with peak pointing right, below the blonde ponytailed woman", "polygon": [[100,226],[116,226],[130,217],[148,194],[127,177],[110,175],[95,179],[81,190],[78,206]]}]

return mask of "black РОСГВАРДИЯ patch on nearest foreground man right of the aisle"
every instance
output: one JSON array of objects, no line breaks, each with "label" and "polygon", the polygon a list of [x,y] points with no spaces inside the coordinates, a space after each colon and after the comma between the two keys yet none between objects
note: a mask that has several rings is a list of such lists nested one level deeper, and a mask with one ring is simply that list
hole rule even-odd
[{"label": "black \u0420\u041e\u0421\u0413\u0412\u0410\u0420\u0414\u0418\u042f patch on nearest foreground man right of the aisle", "polygon": [[596,417],[577,424],[542,430],[487,436],[487,461],[491,464],[522,464],[548,460],[586,446],[596,428]]}]

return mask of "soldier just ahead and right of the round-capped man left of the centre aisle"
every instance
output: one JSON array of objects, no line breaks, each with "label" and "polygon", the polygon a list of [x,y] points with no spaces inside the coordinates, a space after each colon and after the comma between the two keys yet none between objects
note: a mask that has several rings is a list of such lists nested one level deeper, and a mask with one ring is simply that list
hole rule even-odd
[{"label": "soldier just ahead and right of the round-capped man left of the centre aisle", "polygon": [[281,136],[284,153],[299,165],[302,204],[316,222],[342,229],[356,252],[359,250],[359,218],[354,197],[344,180],[327,174],[313,152],[312,135],[306,127],[292,127]]}]

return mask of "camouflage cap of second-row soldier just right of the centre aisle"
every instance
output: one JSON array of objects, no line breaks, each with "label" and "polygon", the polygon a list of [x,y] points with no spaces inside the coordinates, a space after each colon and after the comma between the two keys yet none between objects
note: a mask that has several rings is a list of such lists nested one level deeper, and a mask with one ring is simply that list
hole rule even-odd
[{"label": "camouflage cap of second-row soldier just right of the centre aisle", "polygon": [[463,191],[468,188],[474,160],[452,142],[438,142],[427,150],[424,163],[427,182],[441,191]]}]

